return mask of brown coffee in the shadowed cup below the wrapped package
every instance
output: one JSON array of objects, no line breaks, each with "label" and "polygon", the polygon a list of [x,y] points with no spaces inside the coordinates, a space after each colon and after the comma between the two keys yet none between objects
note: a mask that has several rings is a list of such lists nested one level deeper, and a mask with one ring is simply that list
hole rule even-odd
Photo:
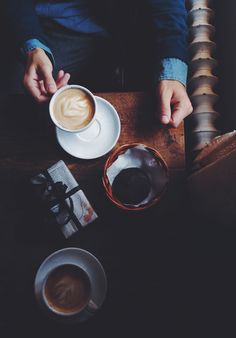
[{"label": "brown coffee in the shadowed cup below the wrapped package", "polygon": [[86,273],[77,266],[67,264],[50,273],[45,284],[45,298],[54,311],[73,314],[87,305],[90,290]]}]

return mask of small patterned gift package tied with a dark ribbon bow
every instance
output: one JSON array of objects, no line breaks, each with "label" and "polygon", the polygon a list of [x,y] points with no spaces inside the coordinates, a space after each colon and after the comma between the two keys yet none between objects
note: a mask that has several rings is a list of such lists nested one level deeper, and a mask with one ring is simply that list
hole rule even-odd
[{"label": "small patterned gift package tied with a dark ribbon bow", "polygon": [[31,179],[33,191],[69,238],[98,216],[63,161]]}]

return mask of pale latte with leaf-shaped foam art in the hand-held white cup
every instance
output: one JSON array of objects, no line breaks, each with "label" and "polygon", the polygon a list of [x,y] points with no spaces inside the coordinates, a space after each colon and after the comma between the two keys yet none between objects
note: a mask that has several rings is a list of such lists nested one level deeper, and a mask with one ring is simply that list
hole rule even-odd
[{"label": "pale latte with leaf-shaped foam art in the hand-held white cup", "polygon": [[88,93],[79,88],[62,91],[53,104],[53,115],[65,129],[76,131],[86,127],[95,114],[95,105]]}]

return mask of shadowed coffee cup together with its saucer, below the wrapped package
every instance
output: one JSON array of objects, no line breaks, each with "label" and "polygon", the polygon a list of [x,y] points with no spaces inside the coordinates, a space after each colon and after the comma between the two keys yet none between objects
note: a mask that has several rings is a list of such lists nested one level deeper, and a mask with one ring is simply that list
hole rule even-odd
[{"label": "shadowed coffee cup together with its saucer, below the wrapped package", "polygon": [[41,263],[34,291],[39,306],[50,318],[64,323],[83,322],[102,306],[107,278],[103,266],[90,252],[64,248]]}]

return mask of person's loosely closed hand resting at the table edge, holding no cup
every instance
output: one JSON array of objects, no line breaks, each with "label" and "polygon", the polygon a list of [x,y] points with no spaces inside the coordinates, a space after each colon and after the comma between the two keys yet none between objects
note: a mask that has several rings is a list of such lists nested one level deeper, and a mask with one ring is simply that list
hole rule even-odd
[{"label": "person's loosely closed hand resting at the table edge, holding no cup", "polygon": [[179,81],[159,81],[156,97],[157,117],[162,124],[177,128],[193,110],[186,89]]}]

